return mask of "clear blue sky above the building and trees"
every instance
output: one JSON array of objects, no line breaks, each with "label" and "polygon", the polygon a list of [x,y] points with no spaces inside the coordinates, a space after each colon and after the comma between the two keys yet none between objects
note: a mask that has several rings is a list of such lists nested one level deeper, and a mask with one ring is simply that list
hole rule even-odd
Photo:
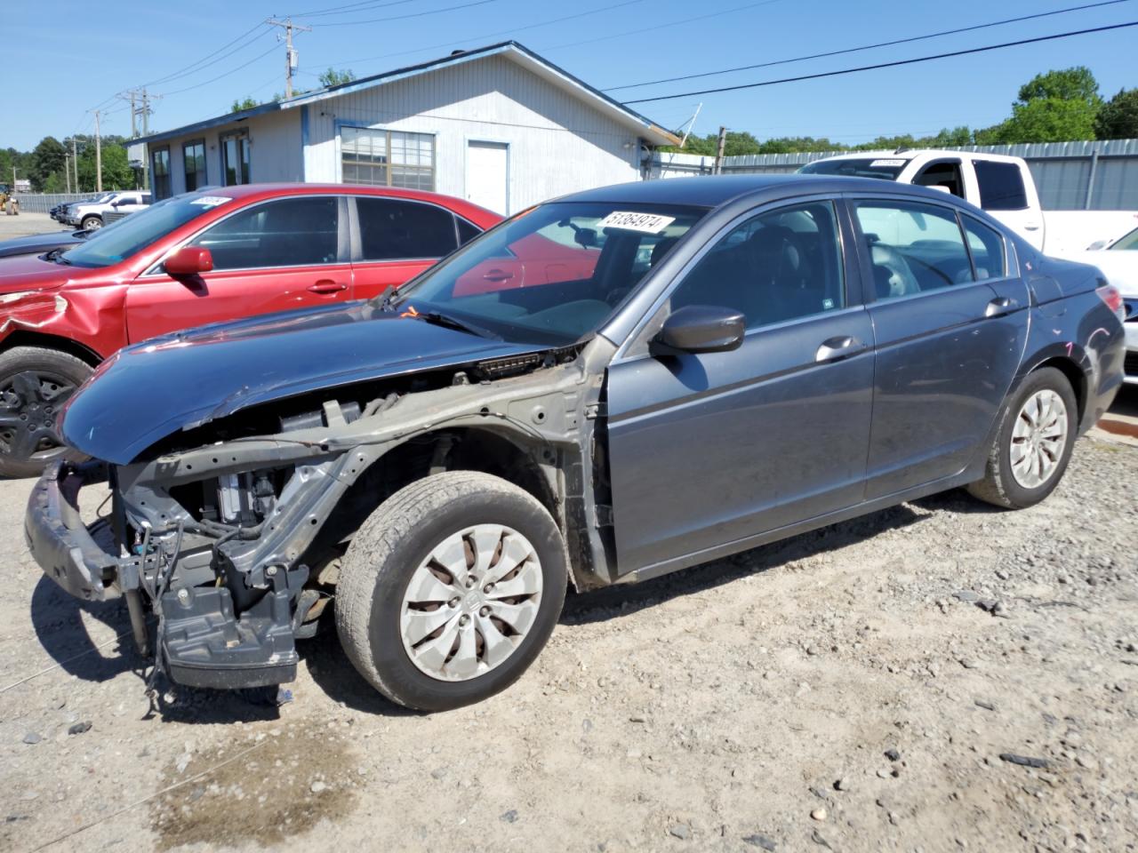
[{"label": "clear blue sky above the building and trees", "polygon": [[[271,15],[292,15],[297,23],[313,25],[311,33],[296,38],[300,64],[296,84],[302,88],[318,85],[315,75],[329,66],[351,68],[357,76],[365,76],[444,56],[456,48],[514,38],[592,85],[605,89],[840,50],[1090,1],[483,0],[453,8],[471,0],[292,0],[296,7],[282,5],[284,0],[110,0],[99,7],[79,0],[3,0],[0,147],[28,149],[47,134],[61,139],[73,132],[89,132],[92,117],[86,110],[100,105],[107,110],[104,132],[129,133],[130,113],[122,101],[114,100],[116,92],[168,77]],[[353,8],[336,14],[313,14],[349,5]],[[442,9],[450,10],[421,15]],[[580,16],[545,23],[572,15]],[[621,89],[611,94],[626,100],[732,85],[1127,20],[1138,20],[1138,0],[913,44],[686,83]],[[640,103],[635,108],[665,126],[676,127],[702,101],[695,126],[701,134],[725,124],[759,138],[824,135],[859,142],[879,134],[921,135],[942,126],[986,126],[1000,121],[1008,114],[1020,84],[1048,68],[1087,65],[1107,97],[1122,86],[1136,86],[1136,48],[1138,27],[899,69]],[[234,52],[225,56],[230,51]],[[175,127],[220,115],[228,111],[234,98],[267,99],[283,91],[283,67],[284,48],[277,45],[275,35],[269,27],[254,30],[197,71],[149,86],[151,92],[164,96],[155,102],[150,127]],[[220,78],[209,82],[214,77]]]}]

